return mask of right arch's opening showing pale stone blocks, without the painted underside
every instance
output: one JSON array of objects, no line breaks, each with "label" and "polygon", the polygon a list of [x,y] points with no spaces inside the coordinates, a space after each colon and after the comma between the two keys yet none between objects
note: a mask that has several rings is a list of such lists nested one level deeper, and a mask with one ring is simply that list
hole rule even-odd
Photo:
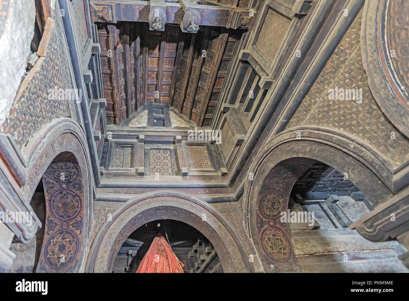
[{"label": "right arch's opening showing pale stone blocks, without the painted underside", "polygon": [[348,178],[315,162],[292,187],[287,222],[295,257],[303,272],[407,272],[398,259],[397,241],[371,242],[350,224],[373,210],[371,202]]}]

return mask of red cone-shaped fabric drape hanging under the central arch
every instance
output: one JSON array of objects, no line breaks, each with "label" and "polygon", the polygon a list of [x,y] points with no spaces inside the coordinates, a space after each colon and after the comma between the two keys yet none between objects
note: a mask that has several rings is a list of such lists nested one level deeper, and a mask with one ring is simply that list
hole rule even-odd
[{"label": "red cone-shaped fabric drape hanging under the central arch", "polygon": [[184,264],[173,253],[171,246],[162,235],[157,235],[137,273],[183,273]]}]

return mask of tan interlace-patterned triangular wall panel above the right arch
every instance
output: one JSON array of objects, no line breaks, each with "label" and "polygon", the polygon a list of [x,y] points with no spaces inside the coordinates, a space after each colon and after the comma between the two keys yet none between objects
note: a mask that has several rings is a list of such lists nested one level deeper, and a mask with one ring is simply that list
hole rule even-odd
[{"label": "tan interlace-patterned triangular wall panel above the right arch", "polygon": [[[345,131],[363,139],[394,165],[400,166],[409,160],[409,140],[385,117],[369,89],[360,49],[361,18],[362,11],[286,129],[314,125]],[[346,93],[344,97],[330,97],[330,89],[354,89],[357,93],[355,99],[348,99]],[[356,97],[359,94],[362,102]]]}]

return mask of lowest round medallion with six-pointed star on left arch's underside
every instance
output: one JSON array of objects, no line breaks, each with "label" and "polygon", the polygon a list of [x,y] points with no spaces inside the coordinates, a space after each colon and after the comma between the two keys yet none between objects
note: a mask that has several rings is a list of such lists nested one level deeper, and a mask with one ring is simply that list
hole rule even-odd
[{"label": "lowest round medallion with six-pointed star on left arch's underside", "polygon": [[61,229],[52,234],[44,247],[44,260],[54,269],[69,266],[79,251],[80,240],[75,231]]}]

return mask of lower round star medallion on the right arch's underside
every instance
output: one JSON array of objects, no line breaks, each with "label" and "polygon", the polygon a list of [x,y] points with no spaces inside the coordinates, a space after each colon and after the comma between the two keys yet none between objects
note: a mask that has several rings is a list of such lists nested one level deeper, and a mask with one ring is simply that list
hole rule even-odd
[{"label": "lower round star medallion on the right arch's underside", "polygon": [[288,235],[278,227],[269,227],[261,234],[263,251],[273,261],[290,258],[292,249]]}]

